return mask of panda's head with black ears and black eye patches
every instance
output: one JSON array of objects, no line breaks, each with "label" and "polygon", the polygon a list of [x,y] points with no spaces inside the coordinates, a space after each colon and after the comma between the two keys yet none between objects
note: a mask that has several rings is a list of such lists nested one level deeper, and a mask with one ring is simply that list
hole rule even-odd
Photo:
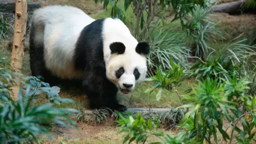
[{"label": "panda's head with black ears and black eye patches", "polygon": [[106,65],[107,78],[123,93],[130,93],[137,82],[147,74],[146,55],[150,47],[146,42],[124,45],[122,42],[109,44],[110,58]]}]

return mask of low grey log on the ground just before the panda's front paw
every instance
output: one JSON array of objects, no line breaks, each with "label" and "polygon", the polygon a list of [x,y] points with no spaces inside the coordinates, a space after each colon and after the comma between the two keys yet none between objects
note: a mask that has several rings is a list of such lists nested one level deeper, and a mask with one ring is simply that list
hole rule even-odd
[{"label": "low grey log on the ground just before the panda's front paw", "polygon": [[[136,118],[137,114],[140,113],[146,121],[149,118],[159,118],[161,123],[168,127],[168,129],[174,128],[186,113],[186,109],[184,108],[128,108],[123,114],[127,114],[128,111],[133,118]],[[81,112],[81,114],[74,115],[77,122],[100,123],[106,121],[109,117],[113,120],[118,119],[118,115],[115,112],[109,115],[107,109],[84,109]]]}]

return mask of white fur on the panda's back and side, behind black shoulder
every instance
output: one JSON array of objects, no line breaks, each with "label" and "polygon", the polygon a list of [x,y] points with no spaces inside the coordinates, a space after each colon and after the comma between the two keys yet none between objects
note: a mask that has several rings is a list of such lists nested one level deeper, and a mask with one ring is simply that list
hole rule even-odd
[{"label": "white fur on the panda's back and side, behind black shoulder", "polygon": [[34,12],[35,40],[44,45],[44,61],[60,78],[82,78],[75,69],[74,55],[82,29],[94,21],[82,10],[72,6],[46,6]]}]

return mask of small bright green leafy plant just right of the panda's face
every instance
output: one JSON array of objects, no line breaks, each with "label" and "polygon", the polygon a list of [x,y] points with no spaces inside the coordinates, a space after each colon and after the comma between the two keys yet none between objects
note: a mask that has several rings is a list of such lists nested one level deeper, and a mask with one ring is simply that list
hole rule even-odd
[{"label": "small bright green leafy plant just right of the panda's face", "polygon": [[184,73],[184,69],[180,67],[180,63],[176,64],[173,60],[170,60],[170,65],[172,67],[171,70],[163,72],[161,68],[159,68],[156,76],[145,79],[145,81],[153,81],[155,83],[150,89],[146,90],[146,92],[152,92],[158,89],[158,93],[156,95],[156,100],[158,101],[161,98],[164,89],[173,91],[177,93],[182,104],[177,87],[180,86],[181,81],[185,80],[186,73]]}]

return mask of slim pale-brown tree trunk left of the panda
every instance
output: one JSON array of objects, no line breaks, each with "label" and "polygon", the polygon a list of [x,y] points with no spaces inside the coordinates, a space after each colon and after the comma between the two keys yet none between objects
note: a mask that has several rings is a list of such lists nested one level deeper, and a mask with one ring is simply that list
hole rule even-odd
[{"label": "slim pale-brown tree trunk left of the panda", "polygon": [[[25,34],[27,25],[27,0],[15,1],[15,29],[13,36],[13,46],[11,55],[11,70],[20,73],[22,59],[24,55]],[[20,82],[18,78],[14,79],[14,85],[11,87],[13,92],[12,99],[18,100]]]}]

